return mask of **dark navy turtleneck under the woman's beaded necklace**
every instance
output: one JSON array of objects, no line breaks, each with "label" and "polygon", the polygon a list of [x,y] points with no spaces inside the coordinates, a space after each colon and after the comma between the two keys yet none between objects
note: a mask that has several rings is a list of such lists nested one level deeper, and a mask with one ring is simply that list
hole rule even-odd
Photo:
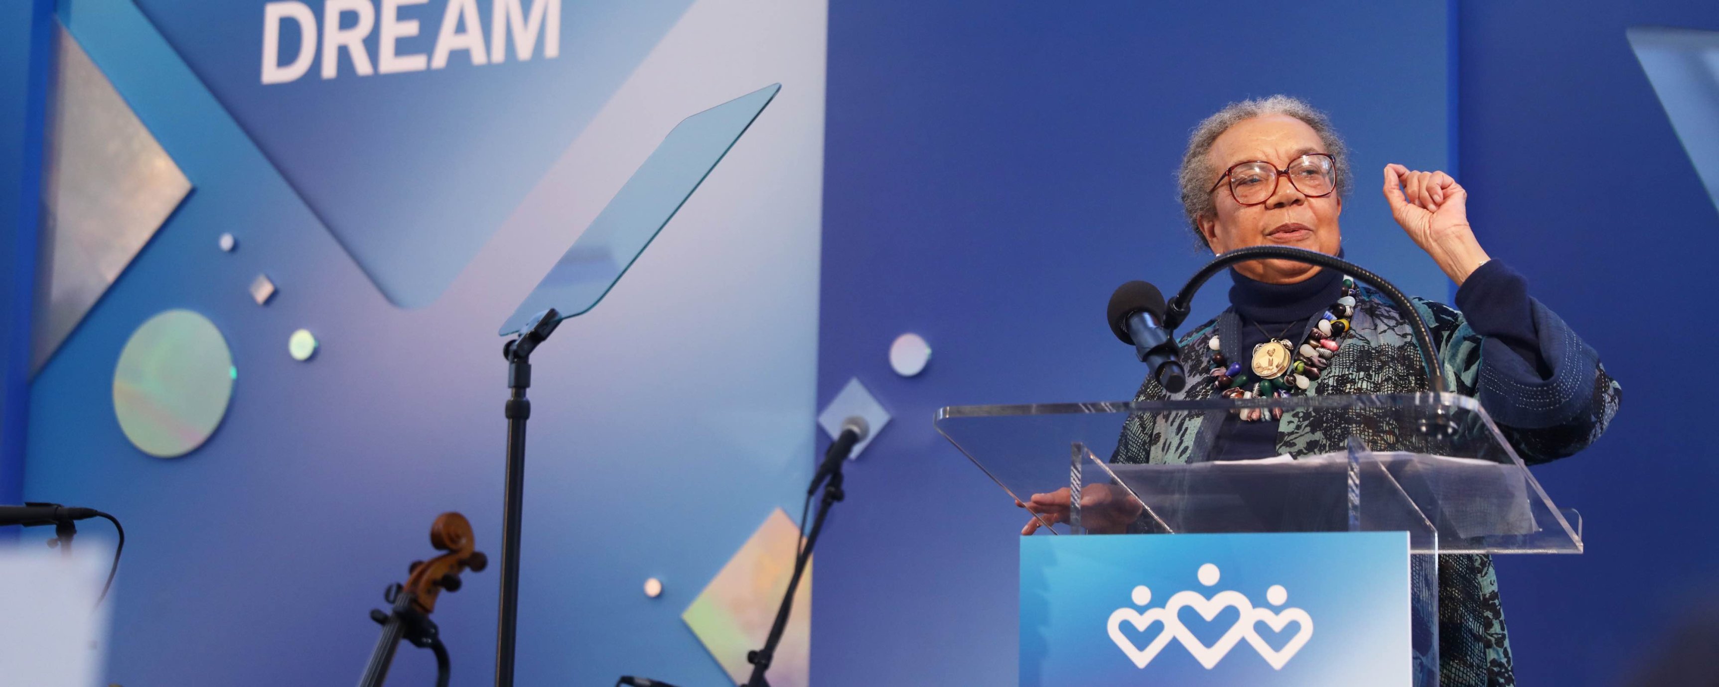
[{"label": "dark navy turtleneck under the woman's beaded necklace", "polygon": [[[1239,345],[1226,344],[1224,349],[1236,352],[1229,359],[1241,362],[1243,369],[1253,361],[1253,347],[1265,344],[1267,333],[1270,338],[1288,338],[1291,350],[1300,347],[1312,319],[1325,314],[1343,294],[1343,275],[1336,270],[1320,270],[1298,283],[1257,282],[1236,270],[1229,270],[1229,278],[1234,282],[1229,287],[1229,304],[1241,319],[1241,337],[1236,342]],[[1236,416],[1226,416],[1212,455],[1217,460],[1277,455],[1277,421],[1243,423]]]}]

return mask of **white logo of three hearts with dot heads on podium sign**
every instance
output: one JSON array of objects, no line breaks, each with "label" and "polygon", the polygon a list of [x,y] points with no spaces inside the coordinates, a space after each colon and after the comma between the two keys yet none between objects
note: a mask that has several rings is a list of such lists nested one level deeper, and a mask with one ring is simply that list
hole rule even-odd
[{"label": "white logo of three hearts with dot heads on podium sign", "polygon": [[[1207,587],[1215,586],[1219,575],[1220,570],[1212,563],[1202,565],[1198,572],[1200,584]],[[1265,591],[1265,601],[1270,603],[1270,606],[1282,606],[1288,599],[1289,591],[1281,584],[1274,584]],[[1148,606],[1152,603],[1152,589],[1145,586],[1135,587],[1131,601],[1135,606]],[[1231,625],[1215,642],[1207,646],[1193,635],[1188,625],[1181,622],[1179,613],[1183,608],[1191,608],[1207,622],[1217,618],[1217,615],[1226,608],[1236,608],[1239,617],[1236,618],[1236,623]],[[1160,630],[1150,642],[1147,642],[1145,647],[1140,647],[1128,637],[1128,634],[1123,632],[1124,622],[1133,625],[1135,632],[1147,632],[1147,629],[1153,623],[1157,623]],[[1296,629],[1296,634],[1289,637],[1289,642],[1286,642],[1281,649],[1272,649],[1272,646],[1267,644],[1257,632],[1260,623],[1270,627],[1272,632],[1282,632],[1289,627],[1289,623],[1296,623],[1300,627]],[[1191,654],[1195,661],[1200,661],[1202,666],[1212,670],[1224,660],[1224,656],[1229,656],[1229,649],[1234,649],[1236,644],[1246,639],[1248,644],[1253,646],[1253,651],[1265,660],[1265,663],[1269,663],[1274,670],[1282,670],[1284,665],[1288,665],[1289,660],[1294,658],[1294,654],[1301,651],[1310,639],[1313,639],[1313,617],[1301,608],[1282,608],[1277,611],[1270,608],[1255,608],[1253,601],[1238,591],[1220,591],[1212,594],[1212,598],[1196,591],[1179,591],[1171,594],[1169,601],[1165,601],[1162,608],[1117,608],[1110,613],[1107,629],[1110,641],[1116,642],[1117,649],[1123,649],[1123,654],[1126,654],[1136,668],[1145,668],[1153,658],[1159,656],[1159,653],[1164,651],[1165,646],[1169,646],[1169,642],[1178,641],[1183,644],[1183,649],[1188,649],[1188,654]]]}]

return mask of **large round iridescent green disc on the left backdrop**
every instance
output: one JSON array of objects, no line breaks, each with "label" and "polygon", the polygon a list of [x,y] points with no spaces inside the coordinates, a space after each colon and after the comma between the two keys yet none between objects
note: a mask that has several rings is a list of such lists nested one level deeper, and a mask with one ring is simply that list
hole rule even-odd
[{"label": "large round iridescent green disc on the left backdrop", "polygon": [[193,311],[163,311],[138,326],[119,354],[113,414],[144,453],[186,455],[215,433],[237,376],[215,323]]}]

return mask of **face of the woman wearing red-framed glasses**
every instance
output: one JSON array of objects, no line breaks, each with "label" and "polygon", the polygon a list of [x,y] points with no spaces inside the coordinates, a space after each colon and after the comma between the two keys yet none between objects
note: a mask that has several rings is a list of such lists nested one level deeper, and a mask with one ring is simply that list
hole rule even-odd
[{"label": "face of the woman wearing red-framed glasses", "polygon": [[[1282,170],[1306,153],[1327,153],[1313,127],[1294,117],[1267,115],[1241,120],[1219,134],[1212,143],[1208,163],[1217,173],[1253,160],[1269,161],[1272,168]],[[1224,179],[1212,191],[1212,204],[1215,215],[1200,218],[1200,234],[1212,246],[1212,252],[1248,246],[1291,246],[1334,256],[1343,246],[1343,234],[1337,230],[1343,201],[1337,194],[1308,198],[1284,175],[1277,175],[1277,187],[1265,203],[1248,206],[1236,203],[1229,192],[1229,179]],[[1313,277],[1318,268],[1288,259],[1255,259],[1238,263],[1236,271],[1260,282],[1294,283]]]}]

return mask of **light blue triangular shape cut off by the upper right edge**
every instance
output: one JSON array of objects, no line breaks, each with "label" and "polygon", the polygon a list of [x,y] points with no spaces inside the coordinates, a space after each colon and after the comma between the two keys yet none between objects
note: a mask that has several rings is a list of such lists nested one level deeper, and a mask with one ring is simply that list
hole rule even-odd
[{"label": "light blue triangular shape cut off by the upper right edge", "polygon": [[1719,206],[1719,31],[1638,26],[1624,34]]}]

